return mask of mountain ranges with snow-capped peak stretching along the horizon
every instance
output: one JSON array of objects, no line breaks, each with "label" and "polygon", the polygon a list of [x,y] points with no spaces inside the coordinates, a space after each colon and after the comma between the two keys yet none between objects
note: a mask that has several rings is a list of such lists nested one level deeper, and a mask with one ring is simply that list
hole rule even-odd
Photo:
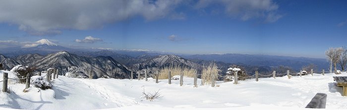
[{"label": "mountain ranges with snow-capped peak stretching along the horizon", "polygon": [[92,72],[94,78],[112,77],[129,78],[130,71],[163,68],[170,65],[181,65],[202,70],[203,65],[215,61],[224,74],[232,64],[242,65],[247,73],[254,71],[270,72],[271,68],[288,66],[298,71],[302,66],[317,65],[317,71],[326,69],[326,59],[248,55],[248,54],[203,54],[173,55],[173,53],[148,50],[105,50],[105,49],[71,49],[57,45],[47,39],[41,39],[23,47],[1,48],[0,61],[5,69],[15,65],[36,66],[43,71],[47,68],[58,68],[67,72],[75,66]]}]

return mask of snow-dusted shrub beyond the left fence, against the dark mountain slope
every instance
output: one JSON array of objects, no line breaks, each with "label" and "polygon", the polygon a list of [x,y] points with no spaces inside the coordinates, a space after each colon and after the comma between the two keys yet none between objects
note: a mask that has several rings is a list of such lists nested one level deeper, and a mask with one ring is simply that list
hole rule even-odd
[{"label": "snow-dusted shrub beyond the left fence, against the dark mountain slope", "polygon": [[89,78],[88,75],[84,73],[84,69],[80,67],[71,67],[68,68],[68,72],[65,74],[67,77],[73,77],[73,78]]}]

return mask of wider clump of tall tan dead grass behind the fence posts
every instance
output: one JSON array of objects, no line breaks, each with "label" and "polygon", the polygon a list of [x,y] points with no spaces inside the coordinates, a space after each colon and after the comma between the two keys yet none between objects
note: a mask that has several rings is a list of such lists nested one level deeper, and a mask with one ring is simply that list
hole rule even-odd
[{"label": "wider clump of tall tan dead grass behind the fence posts", "polygon": [[168,79],[168,74],[171,72],[171,76],[180,75],[183,72],[183,75],[186,77],[194,77],[196,70],[188,67],[181,67],[177,65],[170,65],[159,70],[159,79]]}]

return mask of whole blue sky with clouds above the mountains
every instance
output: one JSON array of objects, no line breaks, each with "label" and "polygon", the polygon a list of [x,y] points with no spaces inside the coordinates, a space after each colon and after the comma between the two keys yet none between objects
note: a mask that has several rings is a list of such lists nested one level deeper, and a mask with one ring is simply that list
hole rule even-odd
[{"label": "whole blue sky with clouds above the mountains", "polygon": [[346,0],[12,0],[0,4],[0,46],[47,38],[72,48],[325,58],[329,47],[347,46],[346,4]]}]

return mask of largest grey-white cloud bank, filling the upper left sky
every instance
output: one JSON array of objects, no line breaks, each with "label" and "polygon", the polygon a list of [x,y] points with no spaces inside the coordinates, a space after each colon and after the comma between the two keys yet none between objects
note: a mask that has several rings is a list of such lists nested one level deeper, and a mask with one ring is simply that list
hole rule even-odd
[{"label": "largest grey-white cloud bank, filling the upper left sky", "polygon": [[18,25],[31,35],[57,35],[62,29],[87,30],[143,16],[164,18],[182,0],[7,0],[0,3],[0,23]]}]

